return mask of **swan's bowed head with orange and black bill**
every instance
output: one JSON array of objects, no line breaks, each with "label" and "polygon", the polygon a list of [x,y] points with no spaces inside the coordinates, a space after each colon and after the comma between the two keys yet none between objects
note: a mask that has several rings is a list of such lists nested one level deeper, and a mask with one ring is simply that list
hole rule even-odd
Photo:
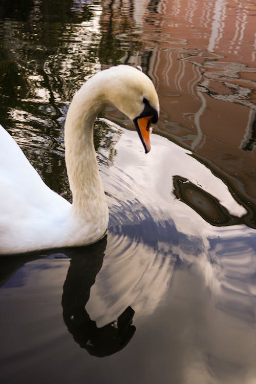
[{"label": "swan's bowed head with orange and black bill", "polygon": [[156,123],[159,117],[159,101],[153,82],[130,66],[121,65],[103,72],[106,97],[134,122],[145,153],[150,152],[151,123]]}]

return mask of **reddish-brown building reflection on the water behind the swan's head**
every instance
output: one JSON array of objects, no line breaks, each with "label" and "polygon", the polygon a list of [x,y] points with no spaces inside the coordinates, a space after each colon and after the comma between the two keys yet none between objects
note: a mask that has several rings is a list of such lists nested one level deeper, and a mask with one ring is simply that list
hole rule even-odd
[{"label": "reddish-brown building reflection on the water behind the swan's head", "polygon": [[[255,20],[251,2],[217,0],[103,3],[102,25],[156,84],[162,110],[156,132],[194,152],[224,179],[253,221],[255,185]],[[130,22],[125,49],[120,20]],[[111,11],[110,11],[111,10]],[[119,24],[115,23],[119,20]],[[127,32],[125,34],[125,38]]]}]

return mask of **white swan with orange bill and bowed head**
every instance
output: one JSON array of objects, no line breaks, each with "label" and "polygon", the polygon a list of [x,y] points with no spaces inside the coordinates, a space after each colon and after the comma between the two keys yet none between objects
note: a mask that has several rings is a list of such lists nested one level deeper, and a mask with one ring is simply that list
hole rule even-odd
[{"label": "white swan with orange bill and bowed head", "polygon": [[159,116],[155,87],[139,69],[120,65],[92,76],[74,95],[65,123],[65,159],[72,204],[40,178],[0,125],[0,254],[82,246],[101,239],[109,211],[93,144],[99,112],[114,105],[135,124],[150,151]]}]

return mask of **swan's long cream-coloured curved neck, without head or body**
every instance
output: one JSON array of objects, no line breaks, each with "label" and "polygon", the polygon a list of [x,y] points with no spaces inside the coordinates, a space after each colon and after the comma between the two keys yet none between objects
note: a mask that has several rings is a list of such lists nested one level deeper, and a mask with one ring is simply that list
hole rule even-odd
[{"label": "swan's long cream-coloured curved neck, without head or body", "polygon": [[100,217],[107,211],[93,143],[94,121],[104,105],[102,91],[89,80],[74,96],[65,123],[66,166],[73,196],[72,210],[75,216],[84,217],[87,221],[97,220],[97,212]]}]

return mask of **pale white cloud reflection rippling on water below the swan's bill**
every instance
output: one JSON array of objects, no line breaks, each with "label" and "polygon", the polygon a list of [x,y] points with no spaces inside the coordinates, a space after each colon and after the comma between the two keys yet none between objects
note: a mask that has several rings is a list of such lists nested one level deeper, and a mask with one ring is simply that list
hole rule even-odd
[{"label": "pale white cloud reflection rippling on water below the swan's bill", "polygon": [[[130,131],[121,135],[116,145],[116,165],[108,170],[111,175],[104,177],[105,188],[112,195],[110,210],[115,216],[118,205],[126,222],[119,222],[119,217],[113,219],[119,222],[122,236],[115,236],[116,228],[109,234],[103,266],[87,304],[91,318],[102,326],[128,305],[134,308],[136,317],[153,313],[164,297],[178,255],[184,265],[193,266],[203,276],[217,306],[252,319],[255,287],[249,282],[256,269],[252,245],[255,231],[244,225],[216,227],[205,222],[195,210],[175,199],[173,176],[200,185],[232,215],[241,217],[245,209],[233,199],[226,184],[188,151],[153,135],[152,151],[145,156],[136,135]],[[131,233],[129,223],[134,226],[139,221],[147,223],[152,244]],[[243,314],[236,308],[239,302]]]}]

